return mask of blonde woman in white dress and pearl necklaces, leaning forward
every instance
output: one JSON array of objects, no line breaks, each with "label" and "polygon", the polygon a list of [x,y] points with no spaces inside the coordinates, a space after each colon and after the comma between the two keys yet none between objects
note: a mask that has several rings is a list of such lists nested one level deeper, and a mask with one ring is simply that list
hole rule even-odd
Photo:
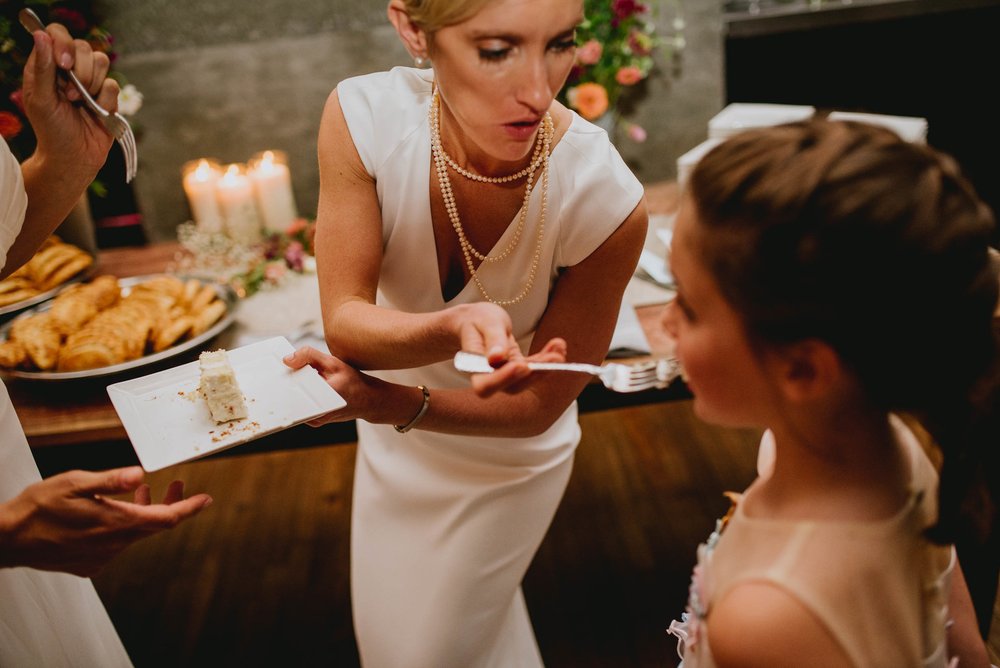
[{"label": "blonde woman in white dress and pearl necklaces, leaning forward", "polygon": [[[360,418],[352,519],[366,666],[536,666],[520,583],[579,441],[645,238],[641,184],[606,133],[555,101],[582,0],[392,0],[419,66],[340,83],[319,135],[326,339],[303,349]],[[560,338],[556,338],[560,337]],[[487,353],[519,393],[451,364]],[[369,370],[360,373],[355,369]]]}]

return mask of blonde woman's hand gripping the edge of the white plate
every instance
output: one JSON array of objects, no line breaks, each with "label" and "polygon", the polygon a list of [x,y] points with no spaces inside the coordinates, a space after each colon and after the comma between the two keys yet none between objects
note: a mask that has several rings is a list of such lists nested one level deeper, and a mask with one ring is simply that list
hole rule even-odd
[{"label": "blonde woman's hand gripping the edge of the white plate", "polygon": [[301,369],[305,366],[316,369],[327,384],[347,402],[347,405],[339,410],[310,420],[307,423],[309,426],[320,427],[331,422],[346,422],[358,418],[369,422],[379,422],[383,419],[381,413],[387,403],[384,395],[390,383],[361,373],[340,358],[310,346],[299,348],[282,361],[292,369]]}]

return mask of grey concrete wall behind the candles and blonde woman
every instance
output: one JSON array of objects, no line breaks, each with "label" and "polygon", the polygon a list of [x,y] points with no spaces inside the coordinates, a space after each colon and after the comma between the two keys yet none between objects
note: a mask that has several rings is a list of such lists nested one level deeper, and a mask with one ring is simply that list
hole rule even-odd
[{"label": "grey concrete wall behind the candles and blonde woman", "polygon": [[[153,240],[190,218],[181,166],[212,156],[242,162],[288,153],[302,215],[319,190],[316,133],[341,79],[407,64],[385,0],[99,0],[117,40],[116,68],[145,96],[136,195]],[[704,139],[722,104],[721,9],[688,0],[687,49],[678,76],[662,72],[634,120],[643,144],[619,142],[639,178],[670,178],[678,155]],[[664,68],[667,69],[667,68]]]}]

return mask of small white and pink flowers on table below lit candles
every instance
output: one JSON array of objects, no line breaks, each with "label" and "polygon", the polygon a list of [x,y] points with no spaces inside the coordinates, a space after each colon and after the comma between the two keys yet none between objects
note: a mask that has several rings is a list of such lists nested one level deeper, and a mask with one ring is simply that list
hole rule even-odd
[{"label": "small white and pink flowers on table below lit candles", "polygon": [[271,232],[252,245],[185,223],[178,226],[177,238],[187,252],[180,256],[175,269],[227,283],[240,297],[249,297],[280,286],[289,272],[316,271],[315,236],[316,223],[305,218],[294,220],[283,232]]}]

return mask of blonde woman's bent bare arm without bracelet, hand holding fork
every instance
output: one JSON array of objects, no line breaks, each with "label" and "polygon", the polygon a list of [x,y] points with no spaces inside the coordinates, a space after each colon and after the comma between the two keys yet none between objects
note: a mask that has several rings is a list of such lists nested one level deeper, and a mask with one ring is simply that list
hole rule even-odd
[{"label": "blonde woman's bent bare arm without bracelet, hand holding fork", "polygon": [[[495,304],[435,313],[375,305],[382,263],[382,222],[375,182],[365,170],[337,91],[319,133],[320,197],[316,255],[323,325],[330,351],[360,369],[424,366],[459,348],[500,363],[516,347],[510,317]],[[424,261],[433,262],[433,258]]]}]

